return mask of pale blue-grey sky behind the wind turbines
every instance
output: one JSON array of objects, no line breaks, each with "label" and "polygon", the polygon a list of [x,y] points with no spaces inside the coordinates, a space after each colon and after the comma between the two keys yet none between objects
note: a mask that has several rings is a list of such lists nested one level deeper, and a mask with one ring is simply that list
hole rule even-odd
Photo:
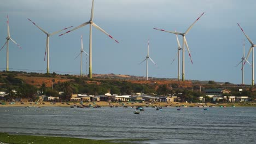
[{"label": "pale blue-grey sky behind the wind turbines", "polygon": [[[22,50],[10,42],[10,70],[46,71],[44,62],[46,35],[34,26],[30,18],[45,31],[52,33],[68,26],[78,26],[90,19],[91,0],[2,0],[0,1],[0,45],[7,37],[7,14],[10,35]],[[241,83],[242,45],[246,34],[256,39],[256,1],[242,0],[95,0],[94,22],[117,39],[92,28],[92,73],[146,76],[146,63],[138,65],[147,55],[150,38],[150,57],[158,68],[149,63],[149,76],[176,78],[176,36],[156,31],[184,32],[203,12],[186,38],[193,58],[191,65],[185,53],[185,79],[214,80]],[[89,52],[89,25],[58,37],[50,37],[50,72],[79,74],[80,61],[74,59],[80,50],[80,35],[84,37],[84,50]],[[182,43],[182,38],[179,37]],[[246,55],[249,49],[246,40]],[[249,62],[251,62],[251,56]],[[84,74],[86,59],[84,57]],[[0,51],[0,70],[6,67],[6,49]],[[13,68],[13,69],[11,69]],[[59,73],[59,72],[57,72]],[[251,83],[251,67],[245,67],[245,83]]]}]

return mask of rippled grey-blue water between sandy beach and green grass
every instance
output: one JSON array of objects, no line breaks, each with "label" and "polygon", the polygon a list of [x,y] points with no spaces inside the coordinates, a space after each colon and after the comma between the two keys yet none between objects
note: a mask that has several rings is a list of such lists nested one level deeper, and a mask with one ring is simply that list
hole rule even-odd
[{"label": "rippled grey-blue water between sandy beach and green grass", "polygon": [[256,107],[0,107],[0,131],[146,143],[256,143]]}]

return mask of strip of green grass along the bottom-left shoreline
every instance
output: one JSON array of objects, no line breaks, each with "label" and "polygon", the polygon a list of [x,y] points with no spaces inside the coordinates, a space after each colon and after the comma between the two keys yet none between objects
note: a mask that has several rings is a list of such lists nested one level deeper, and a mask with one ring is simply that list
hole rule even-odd
[{"label": "strip of green grass along the bottom-left shoreline", "polygon": [[32,135],[10,135],[8,133],[0,133],[0,142],[5,143],[29,143],[29,144],[73,144],[73,143],[90,143],[90,144],[131,144],[138,141],[146,141],[145,139],[124,139],[124,140],[90,140],[79,139],[73,137],[53,137],[53,136],[32,136]]}]

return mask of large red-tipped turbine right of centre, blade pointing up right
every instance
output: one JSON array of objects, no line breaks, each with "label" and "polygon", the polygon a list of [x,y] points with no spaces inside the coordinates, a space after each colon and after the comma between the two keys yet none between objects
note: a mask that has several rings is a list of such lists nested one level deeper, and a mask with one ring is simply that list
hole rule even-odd
[{"label": "large red-tipped turbine right of centre, blade pointing up right", "polygon": [[156,30],[159,30],[159,31],[163,31],[163,32],[168,32],[168,33],[174,33],[174,34],[178,34],[178,35],[182,35],[183,37],[183,44],[182,44],[182,81],[185,81],[185,45],[187,47],[187,50],[188,50],[188,53],[189,53],[189,57],[190,57],[190,61],[191,63],[193,64],[193,61],[191,59],[191,55],[190,55],[190,52],[189,52],[189,47],[188,47],[188,43],[187,43],[187,40],[185,38],[185,35],[188,34],[188,32],[190,31],[190,29],[195,25],[195,23],[200,19],[200,17],[205,14],[205,13],[202,13],[196,20],[194,23],[192,23],[192,25],[187,29],[187,31],[185,31],[185,33],[179,33],[179,32],[170,32],[170,31],[165,31],[164,29],[158,29],[158,28],[154,28]]}]

